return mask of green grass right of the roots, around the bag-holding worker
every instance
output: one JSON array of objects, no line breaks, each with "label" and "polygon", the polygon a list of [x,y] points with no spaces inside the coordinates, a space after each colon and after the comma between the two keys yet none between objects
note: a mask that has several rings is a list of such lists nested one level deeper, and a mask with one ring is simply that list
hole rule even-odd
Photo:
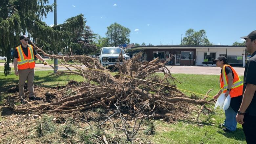
[{"label": "green grass right of the roots, around the bag-holding worker", "polygon": [[[214,89],[209,93],[210,96],[215,95],[219,91],[219,76],[218,75],[199,75],[199,74],[172,74],[181,84],[177,84],[178,88],[193,91],[195,93],[205,94],[208,90]],[[243,76],[240,76],[243,80]],[[190,93],[184,92],[188,95]],[[210,98],[208,98],[210,99]],[[207,105],[213,109],[214,105]],[[200,106],[198,106],[200,109]],[[157,134],[150,137],[154,143],[158,144],[194,144],[202,140],[205,144],[217,143],[246,143],[242,126],[237,125],[237,131],[225,133],[218,126],[223,123],[225,114],[219,108],[214,113],[209,115],[200,114],[200,126],[196,123],[197,113],[192,112],[195,120],[180,120],[176,124],[167,124],[160,120],[155,120],[154,124],[157,128]],[[207,140],[208,139],[208,140]]]}]

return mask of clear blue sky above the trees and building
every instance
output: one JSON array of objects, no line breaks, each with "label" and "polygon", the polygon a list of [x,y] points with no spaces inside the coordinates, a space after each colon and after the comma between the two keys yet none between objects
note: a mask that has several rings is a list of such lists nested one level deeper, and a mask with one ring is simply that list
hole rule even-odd
[{"label": "clear blue sky above the trees and building", "polygon": [[[192,28],[204,29],[213,44],[232,45],[256,30],[255,6],[255,0],[57,0],[57,23],[82,13],[103,37],[112,23],[129,28],[131,43],[179,45]],[[52,25],[53,13],[44,21]]]}]

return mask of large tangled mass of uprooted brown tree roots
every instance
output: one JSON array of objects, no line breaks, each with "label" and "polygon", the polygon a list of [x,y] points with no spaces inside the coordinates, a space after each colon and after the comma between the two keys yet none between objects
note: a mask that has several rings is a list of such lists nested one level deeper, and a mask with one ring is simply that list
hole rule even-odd
[{"label": "large tangled mass of uprooted brown tree roots", "polygon": [[[40,50],[40,49],[39,49]],[[61,99],[51,103],[21,105],[14,108],[16,112],[35,111],[35,112],[74,112],[86,110],[96,106],[108,108],[112,104],[118,103],[125,107],[126,110],[138,111],[142,106],[148,111],[145,115],[153,114],[155,111],[171,111],[175,103],[187,102],[192,104],[203,105],[211,100],[200,100],[187,98],[180,91],[152,84],[143,80],[150,80],[156,83],[175,86],[177,82],[169,70],[163,63],[157,63],[158,59],[148,63],[139,62],[141,53],[138,53],[133,58],[125,61],[120,54],[120,59],[125,61],[116,67],[118,72],[112,75],[106,70],[95,58],[89,56],[58,56],[49,55],[40,50],[44,55],[68,60],[78,60],[84,64],[86,68],[81,68],[76,65],[65,64],[67,68],[74,67],[76,71],[58,71],[57,74],[76,74],[83,77],[84,82],[76,89],[76,95],[64,95]],[[94,70],[92,70],[94,69]],[[97,71],[100,70],[100,71]],[[154,76],[157,72],[163,72],[164,77]],[[121,74],[121,75],[119,75]],[[129,75],[126,77],[124,75]],[[157,77],[157,78],[156,78]],[[135,79],[138,78],[138,79]],[[150,93],[149,93],[150,92]]]}]

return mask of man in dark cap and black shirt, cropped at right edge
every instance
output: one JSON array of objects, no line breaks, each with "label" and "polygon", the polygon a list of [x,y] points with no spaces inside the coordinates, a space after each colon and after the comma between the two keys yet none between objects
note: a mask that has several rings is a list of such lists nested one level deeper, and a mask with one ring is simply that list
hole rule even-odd
[{"label": "man in dark cap and black shirt, cropped at right edge", "polygon": [[241,38],[251,58],[245,65],[243,100],[236,120],[243,126],[247,144],[256,144],[256,31]]}]

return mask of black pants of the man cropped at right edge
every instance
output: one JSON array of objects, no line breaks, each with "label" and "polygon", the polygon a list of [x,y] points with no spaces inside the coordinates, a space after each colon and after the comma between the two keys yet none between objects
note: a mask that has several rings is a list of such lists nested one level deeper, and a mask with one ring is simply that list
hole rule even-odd
[{"label": "black pants of the man cropped at right edge", "polygon": [[247,144],[256,144],[256,116],[245,114],[242,126]]}]

